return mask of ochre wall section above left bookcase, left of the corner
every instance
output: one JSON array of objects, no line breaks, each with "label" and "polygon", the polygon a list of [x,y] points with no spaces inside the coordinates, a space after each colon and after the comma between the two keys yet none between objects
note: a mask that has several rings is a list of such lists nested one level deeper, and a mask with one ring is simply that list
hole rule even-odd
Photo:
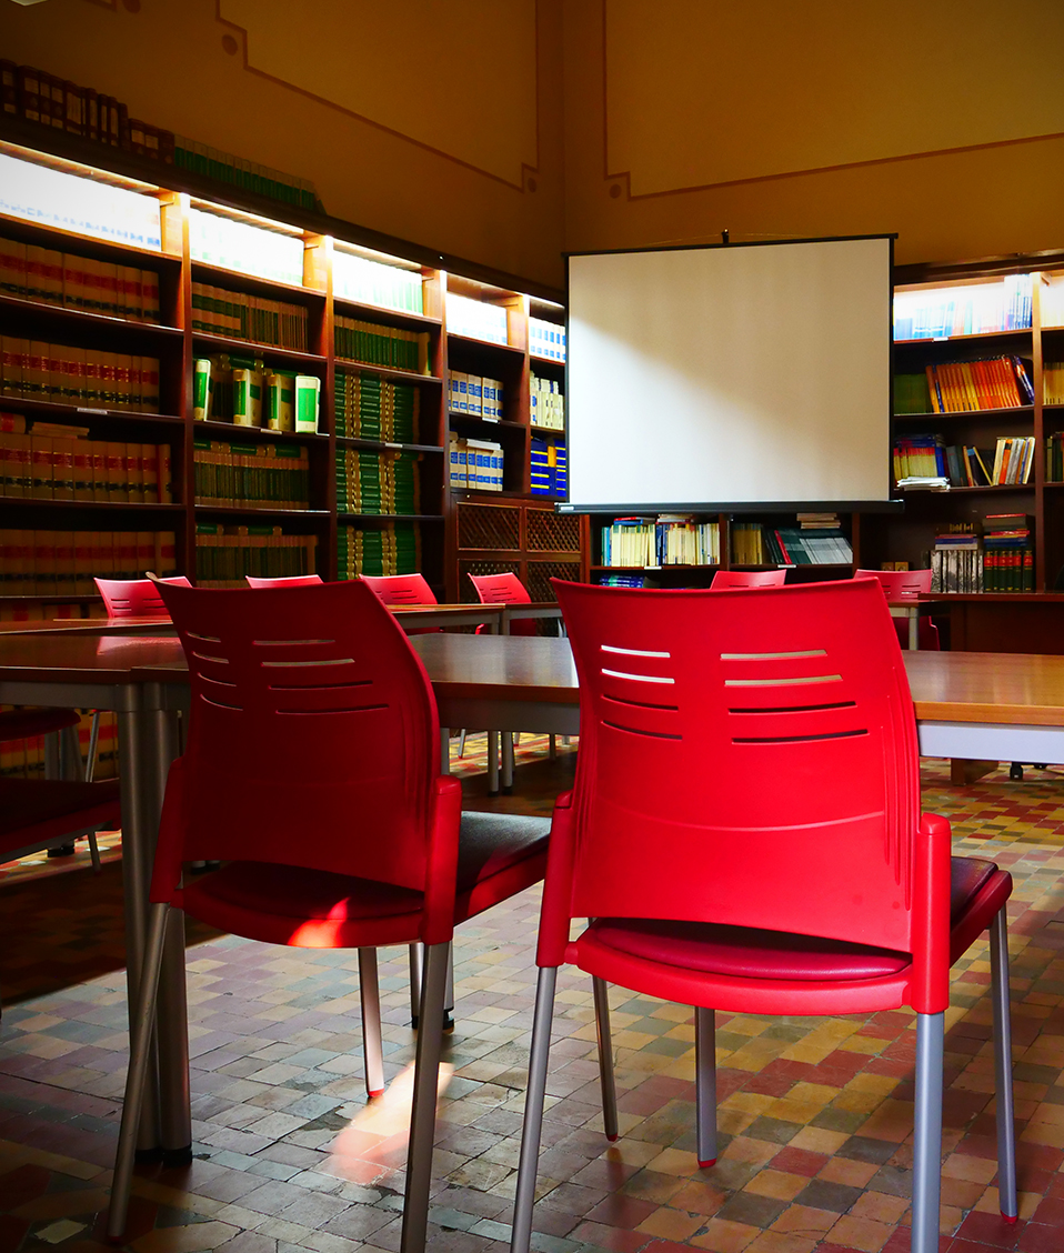
[{"label": "ochre wall section above left bookcase, left of the corner", "polygon": [[0,4],[0,55],[311,179],[326,209],[560,277],[559,0]]}]

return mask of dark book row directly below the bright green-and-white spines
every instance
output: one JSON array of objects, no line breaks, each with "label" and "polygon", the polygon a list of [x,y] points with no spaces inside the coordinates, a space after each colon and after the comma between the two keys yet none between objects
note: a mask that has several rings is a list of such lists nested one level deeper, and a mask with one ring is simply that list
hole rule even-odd
[{"label": "dark book row directly below the bright green-and-white spines", "polygon": [[295,444],[196,440],[196,504],[310,509],[310,459]]}]

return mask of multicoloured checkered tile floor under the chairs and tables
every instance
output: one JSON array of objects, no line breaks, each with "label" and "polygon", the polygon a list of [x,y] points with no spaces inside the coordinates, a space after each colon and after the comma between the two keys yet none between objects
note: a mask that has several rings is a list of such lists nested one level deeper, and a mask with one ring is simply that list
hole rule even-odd
[{"label": "multicoloured checkered tile floor under the chairs and tables", "polygon": [[[526,764],[489,802],[474,758],[469,803],[546,812],[571,757]],[[465,769],[465,768],[464,768]],[[954,972],[947,1017],[941,1250],[1064,1250],[1064,777],[999,772],[950,787],[927,763],[925,807],[960,852],[1016,878],[1010,907],[1020,1222],[998,1214],[985,944]],[[0,888],[0,1253],[102,1249],[100,1212],[125,1061],[118,866]],[[441,1103],[430,1248],[501,1249],[524,1108],[538,891],[493,910],[456,945],[455,1078]],[[84,906],[84,908],[83,908]],[[405,954],[381,966],[389,1078],[412,1059]],[[602,1135],[588,981],[559,979],[541,1202],[541,1253],[889,1253],[909,1248],[914,1017],[718,1017],[718,1164],[694,1160],[691,1011],[613,990],[622,1138]],[[365,1106],[352,952],[229,936],[189,951],[196,1160],[139,1174],[137,1253],[396,1249],[402,1135],[348,1133]]]}]

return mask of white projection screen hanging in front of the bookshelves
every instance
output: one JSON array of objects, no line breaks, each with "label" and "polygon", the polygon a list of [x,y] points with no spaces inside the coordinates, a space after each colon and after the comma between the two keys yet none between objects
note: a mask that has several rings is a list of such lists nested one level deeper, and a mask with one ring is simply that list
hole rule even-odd
[{"label": "white projection screen hanging in front of the bookshelves", "polygon": [[569,504],[890,499],[892,237],[569,257]]}]

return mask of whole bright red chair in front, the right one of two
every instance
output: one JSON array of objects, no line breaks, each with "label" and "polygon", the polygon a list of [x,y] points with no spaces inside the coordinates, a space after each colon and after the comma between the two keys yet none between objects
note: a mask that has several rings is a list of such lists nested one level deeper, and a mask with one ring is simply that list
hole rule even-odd
[{"label": "whole bright red chair in front, the right one of two", "polygon": [[[580,683],[580,759],[551,827],[513,1248],[529,1248],[556,967],[571,962],[696,1006],[703,1167],[717,1157],[716,1009],[914,1009],[912,1248],[937,1250],[949,970],[988,928],[999,1197],[1014,1219],[1011,878],[951,861],[949,823],[920,814],[912,698],[875,584],[555,589]],[[594,921],[570,942],[575,918]],[[605,1014],[600,1026],[615,1135]]]}]

